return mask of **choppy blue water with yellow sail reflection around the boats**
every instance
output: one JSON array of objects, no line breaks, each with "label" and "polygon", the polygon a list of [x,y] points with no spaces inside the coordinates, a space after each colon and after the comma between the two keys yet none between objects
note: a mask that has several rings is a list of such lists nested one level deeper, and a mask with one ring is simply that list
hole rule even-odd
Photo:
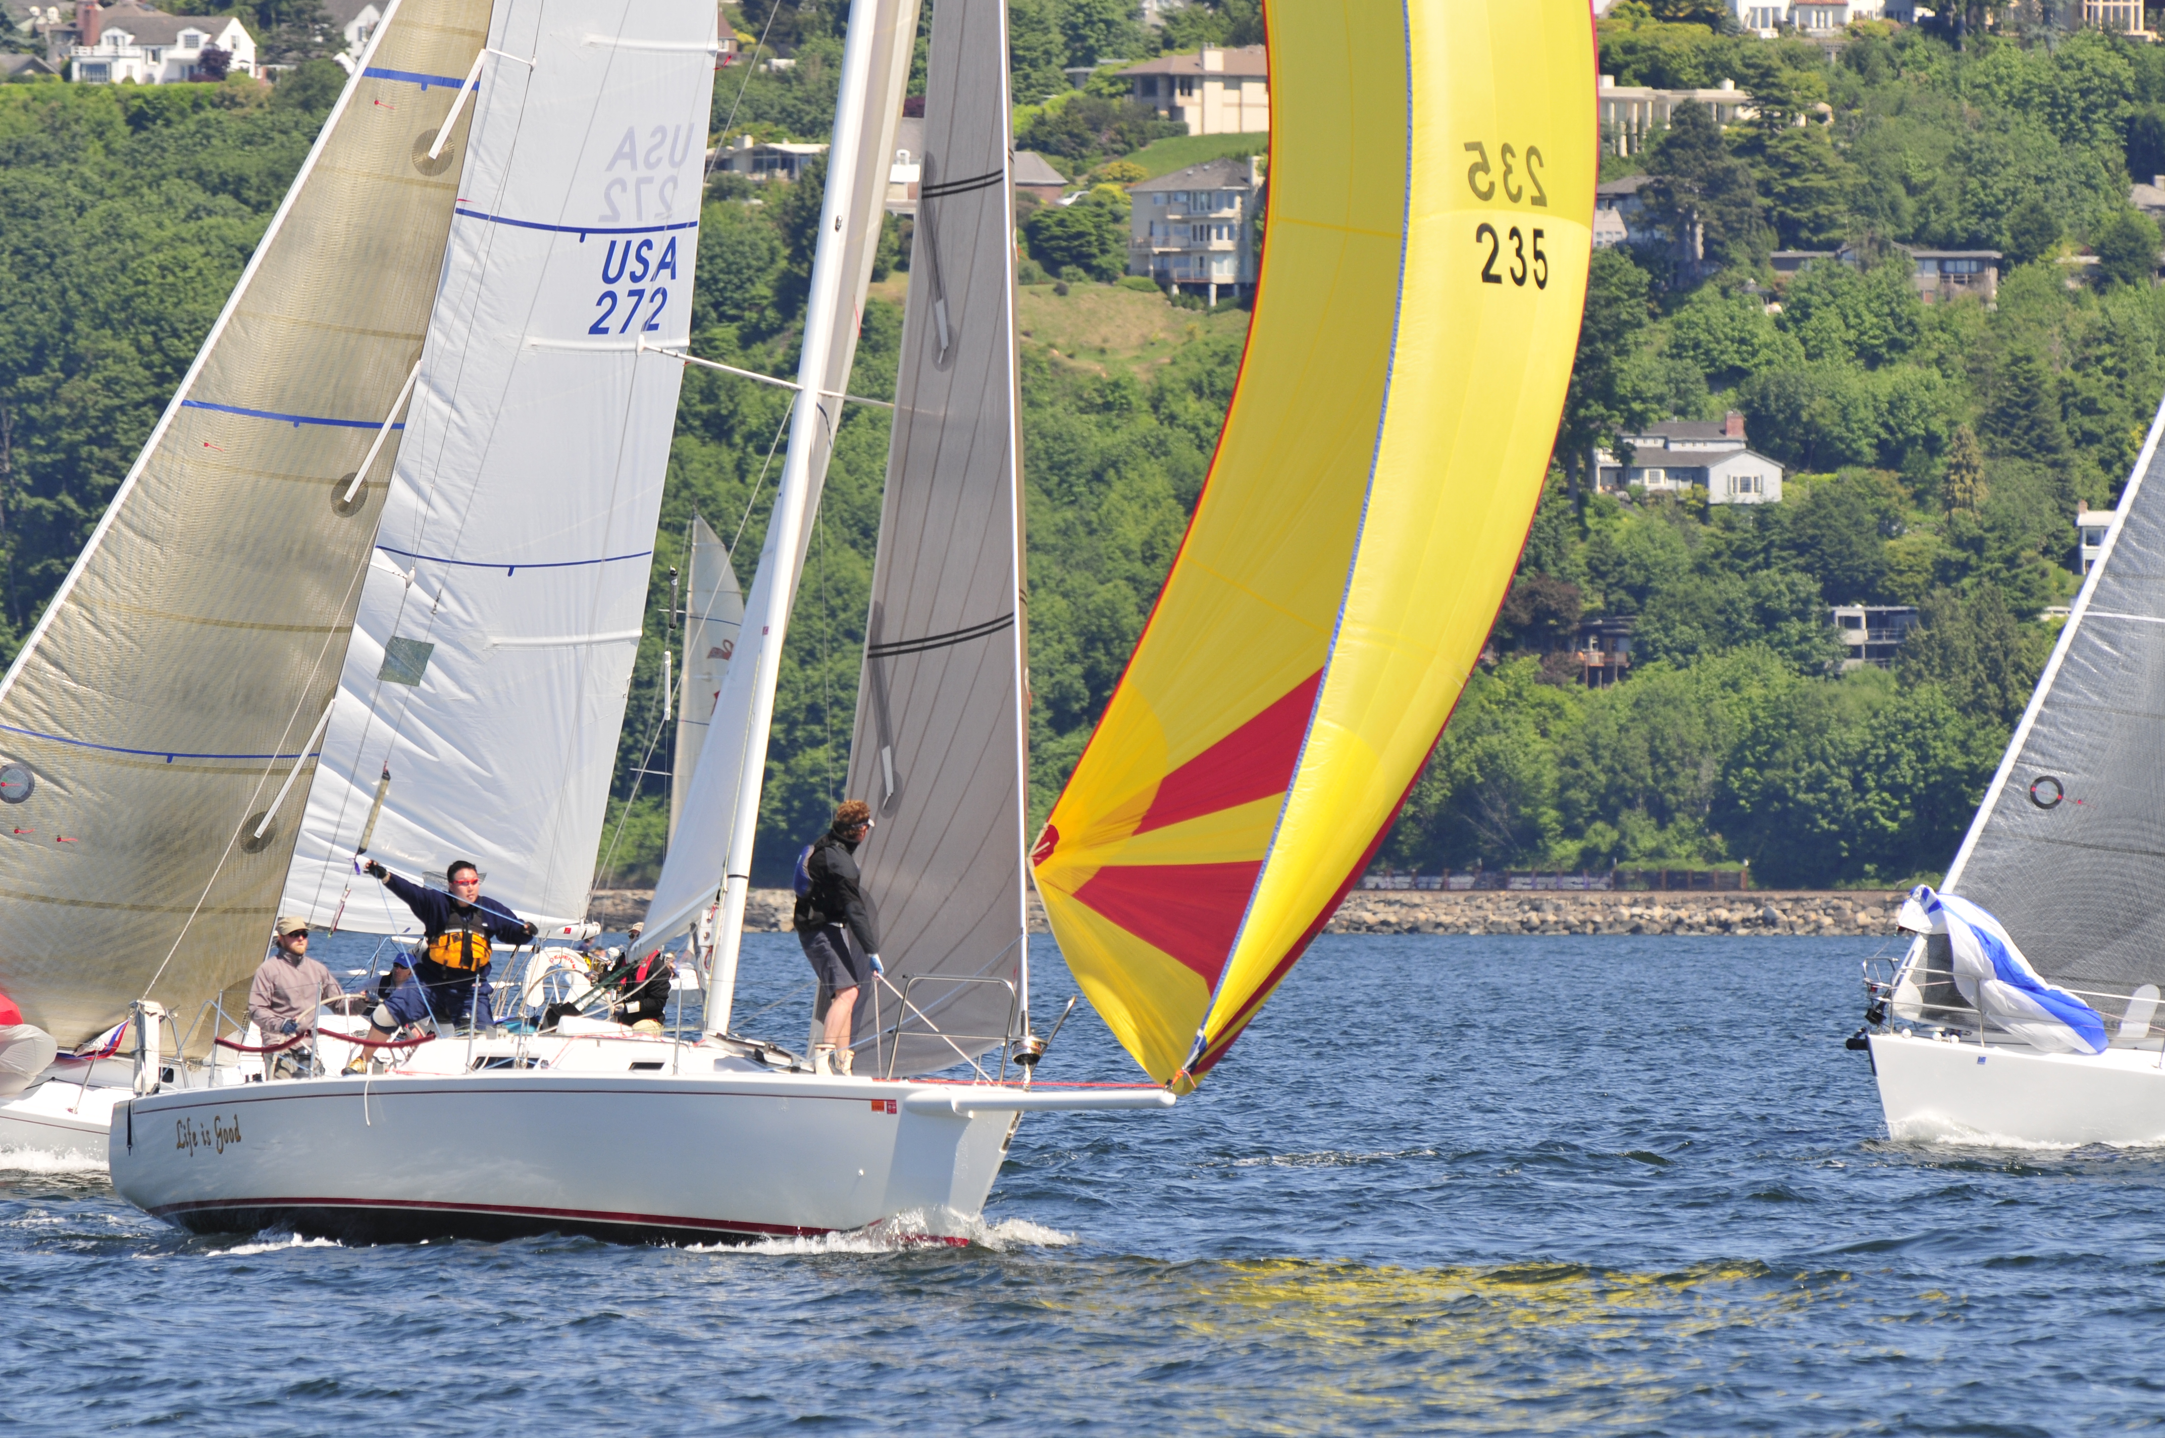
[{"label": "choppy blue water with yellow sail reflection around the boats", "polygon": [[[1840,1046],[1875,949],[1325,938],[1171,1113],[1026,1120],[963,1250],[186,1239],[4,1172],[0,1425],[2156,1425],[2165,1152],[1888,1143]],[[747,955],[777,1037],[801,964]],[[1078,1009],[1044,1072],[1132,1070]]]}]

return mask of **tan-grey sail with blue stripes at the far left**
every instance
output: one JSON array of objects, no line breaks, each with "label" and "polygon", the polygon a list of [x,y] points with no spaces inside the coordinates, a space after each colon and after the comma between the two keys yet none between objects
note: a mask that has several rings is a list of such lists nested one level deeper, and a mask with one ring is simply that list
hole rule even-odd
[{"label": "tan-grey sail with blue stripes at the far left", "polygon": [[390,422],[422,351],[465,115],[429,152],[487,26],[487,0],[390,6],[0,680],[0,992],[63,1044],[139,994],[188,1024],[262,959],[398,453]]}]

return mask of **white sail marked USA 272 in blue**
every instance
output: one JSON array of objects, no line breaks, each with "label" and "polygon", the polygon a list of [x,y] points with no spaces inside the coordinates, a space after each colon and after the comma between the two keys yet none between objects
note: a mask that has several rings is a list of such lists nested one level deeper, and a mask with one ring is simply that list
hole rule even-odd
[{"label": "white sail marked USA 272 in blue", "polygon": [[688,336],[712,43],[708,0],[498,4],[281,910],[411,927],[353,881],[366,829],[409,877],[463,858],[522,916],[585,918],[675,427],[682,366],[652,351]]}]

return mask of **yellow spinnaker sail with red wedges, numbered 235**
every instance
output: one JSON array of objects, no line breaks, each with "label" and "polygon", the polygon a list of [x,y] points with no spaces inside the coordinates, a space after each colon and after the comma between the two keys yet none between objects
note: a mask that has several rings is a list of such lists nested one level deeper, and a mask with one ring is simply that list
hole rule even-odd
[{"label": "yellow spinnaker sail with red wedges, numbered 235", "polygon": [[1247,355],[1158,606],[1033,862],[1160,1083],[1241,1035],[1375,855],[1541,492],[1598,141],[1585,0],[1269,6]]}]

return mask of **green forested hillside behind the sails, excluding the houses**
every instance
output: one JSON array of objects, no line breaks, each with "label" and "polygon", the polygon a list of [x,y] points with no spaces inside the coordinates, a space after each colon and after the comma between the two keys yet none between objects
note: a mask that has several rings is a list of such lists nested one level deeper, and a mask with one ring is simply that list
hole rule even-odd
[{"label": "green forested hillside behind the sails, excluding the houses", "polygon": [[[717,76],[723,132],[825,139],[838,6],[747,4],[786,71]],[[1124,0],[1018,0],[1018,128],[1078,180],[1076,219],[1018,214],[1026,245],[1033,810],[1072,767],[1199,492],[1245,314],[1098,284],[1126,227],[1121,156],[1158,141],[1067,63],[1260,39],[1254,9],[1193,4],[1169,39]],[[1864,28],[1860,28],[1864,30]],[[2072,518],[2104,505],[2165,388],[2156,232],[2130,167],[2165,169],[2165,48],[2098,35],[1858,32],[1838,52],[1654,19],[1600,28],[1622,84],[1734,78],[1760,119],[1680,119],[1606,167],[1652,175],[1661,232],[1598,258],[1559,470],[1479,671],[1386,860],[1399,866],[1743,862],[1762,881],[1890,881],[1944,866],[2074,589]],[[2050,39],[2050,43],[2048,43]],[[225,299],[336,89],[0,87],[0,648],[65,574]],[[1050,104],[1046,104],[1050,102]],[[1790,123],[1803,117],[1806,123]],[[693,347],[790,372],[814,184],[717,182]],[[1052,214],[1052,212],[1046,212]],[[1035,223],[1033,223],[1035,221]],[[1704,260],[1674,243],[1704,236]],[[1777,288],[1773,249],[1855,245]],[[1998,308],[1918,303],[1897,245],[2003,249]],[[907,234],[894,227],[853,388],[892,385]],[[2068,262],[2087,260],[2098,262]],[[1782,505],[1589,498],[1576,457],[1665,416],[1747,416],[1790,468]],[[779,472],[782,396],[691,372],[626,719],[619,799],[647,760],[667,572],[699,511],[743,535]],[[853,407],[795,615],[762,821],[762,877],[838,795],[855,713],[888,422]],[[1918,604],[1892,671],[1832,678],[1829,602]],[[1637,667],[1572,682],[1580,615],[1632,615]],[[608,855],[660,853],[645,782]],[[621,806],[619,806],[621,808]],[[604,836],[604,845],[611,842]]]}]

